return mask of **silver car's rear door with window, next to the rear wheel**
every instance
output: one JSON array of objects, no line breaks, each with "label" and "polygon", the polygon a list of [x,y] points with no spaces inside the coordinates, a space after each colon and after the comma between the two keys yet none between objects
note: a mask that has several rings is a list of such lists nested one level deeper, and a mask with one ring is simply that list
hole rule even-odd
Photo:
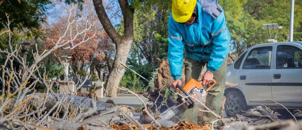
[{"label": "silver car's rear door with window, next to the rear wheel", "polygon": [[273,46],[252,48],[237,73],[238,85],[243,87],[249,102],[265,102],[271,96],[271,61]]}]

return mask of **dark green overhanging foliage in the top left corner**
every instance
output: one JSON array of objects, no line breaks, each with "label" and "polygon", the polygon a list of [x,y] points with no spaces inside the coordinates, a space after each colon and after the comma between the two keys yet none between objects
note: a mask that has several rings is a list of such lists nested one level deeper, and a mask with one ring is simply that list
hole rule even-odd
[{"label": "dark green overhanging foliage in the top left corner", "polygon": [[[59,0],[62,1],[62,0]],[[77,3],[81,9],[84,0],[65,0],[66,4]],[[54,7],[52,0],[1,0],[0,30],[7,28],[9,15],[11,30],[22,30],[41,37],[41,24],[46,22],[47,11]]]}]

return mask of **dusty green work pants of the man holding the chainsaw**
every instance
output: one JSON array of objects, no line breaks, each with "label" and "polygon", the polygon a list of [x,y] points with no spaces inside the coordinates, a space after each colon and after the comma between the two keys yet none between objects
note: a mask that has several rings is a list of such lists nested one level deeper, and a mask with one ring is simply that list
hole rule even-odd
[{"label": "dusty green work pants of the man holding the chainsaw", "polygon": [[[206,98],[205,105],[216,114],[219,114],[220,106],[222,104],[222,97],[224,93],[225,80],[226,80],[226,63],[227,63],[227,58],[225,58],[220,68],[214,72],[214,80],[216,80],[216,84],[208,91],[207,98]],[[205,64],[206,62],[201,62],[186,57],[185,59],[186,82],[191,78],[198,80],[201,76],[201,71],[205,66]],[[182,121],[185,120],[187,122],[197,123],[197,118],[198,118],[197,104],[199,103],[196,103],[196,105],[191,109],[186,109],[184,113],[179,115],[179,119]],[[209,112],[204,112],[201,123],[210,124],[212,121],[216,119],[217,118],[213,114]]]}]

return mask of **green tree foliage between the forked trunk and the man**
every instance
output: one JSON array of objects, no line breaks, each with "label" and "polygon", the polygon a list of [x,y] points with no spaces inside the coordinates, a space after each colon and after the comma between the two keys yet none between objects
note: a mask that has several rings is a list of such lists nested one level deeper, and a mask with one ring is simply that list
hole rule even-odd
[{"label": "green tree foliage between the forked trunk and the man", "polygon": [[171,13],[171,1],[145,1],[141,4],[147,8],[137,8],[134,13],[134,44],[132,50],[139,49],[139,54],[148,63],[157,66],[159,63],[157,58],[167,58],[167,22]]}]

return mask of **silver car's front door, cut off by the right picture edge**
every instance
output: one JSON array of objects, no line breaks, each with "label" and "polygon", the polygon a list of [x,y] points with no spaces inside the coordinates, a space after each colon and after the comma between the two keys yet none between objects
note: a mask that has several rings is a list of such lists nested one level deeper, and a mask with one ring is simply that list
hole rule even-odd
[{"label": "silver car's front door, cut off by the right picture edge", "polygon": [[302,48],[294,44],[277,45],[272,70],[273,100],[279,103],[302,103]]}]

